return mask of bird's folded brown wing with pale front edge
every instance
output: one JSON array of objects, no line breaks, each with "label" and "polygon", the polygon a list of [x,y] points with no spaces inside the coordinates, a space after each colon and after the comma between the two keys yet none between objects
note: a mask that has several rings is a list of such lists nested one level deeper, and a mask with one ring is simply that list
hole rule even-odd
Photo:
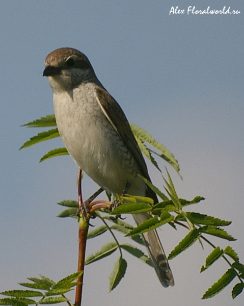
[{"label": "bird's folded brown wing with pale front edge", "polygon": [[110,121],[116,132],[124,141],[124,144],[128,147],[128,149],[132,152],[133,156],[137,160],[142,170],[141,174],[146,177],[146,179],[150,180],[142,152],[134,138],[134,135],[130,129],[129,122],[123,110],[116,102],[116,100],[105,89],[100,87],[96,88],[95,95],[98,104],[100,105],[107,120]]}]

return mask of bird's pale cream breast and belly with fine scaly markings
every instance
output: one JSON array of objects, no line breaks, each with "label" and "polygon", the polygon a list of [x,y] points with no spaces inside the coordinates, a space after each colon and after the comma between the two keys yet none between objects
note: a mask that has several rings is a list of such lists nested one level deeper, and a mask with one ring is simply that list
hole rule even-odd
[{"label": "bird's pale cream breast and belly with fine scaly markings", "polygon": [[72,95],[53,95],[60,135],[75,163],[99,186],[121,194],[126,183],[132,194],[145,194],[139,167],[123,140],[103,114],[89,86]]}]

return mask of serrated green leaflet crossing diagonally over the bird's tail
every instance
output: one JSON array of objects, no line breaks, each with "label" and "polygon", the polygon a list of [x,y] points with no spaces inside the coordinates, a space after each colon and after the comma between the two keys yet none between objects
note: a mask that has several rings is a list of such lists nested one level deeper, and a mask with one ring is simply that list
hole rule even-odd
[{"label": "serrated green leaflet crossing diagonally over the bird's tail", "polygon": [[144,222],[138,224],[137,227],[133,228],[126,236],[133,236],[133,235],[141,235],[145,232],[154,230],[154,228],[157,228],[165,223],[168,223],[172,221],[174,217],[170,215],[168,212],[162,213],[160,216],[160,219],[158,219],[157,216],[150,218],[148,220],[145,220]]}]

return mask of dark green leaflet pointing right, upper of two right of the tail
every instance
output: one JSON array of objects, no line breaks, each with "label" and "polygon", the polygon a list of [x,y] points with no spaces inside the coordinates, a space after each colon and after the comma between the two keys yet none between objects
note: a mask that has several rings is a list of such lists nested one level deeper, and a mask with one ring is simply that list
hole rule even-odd
[{"label": "dark green leaflet pointing right, upper of two right of the tail", "polygon": [[[195,224],[226,226],[231,223],[231,221],[225,221],[219,218],[214,218],[214,217],[199,214],[199,213],[185,212],[185,214]],[[185,221],[183,214],[179,214],[176,219]]]}]

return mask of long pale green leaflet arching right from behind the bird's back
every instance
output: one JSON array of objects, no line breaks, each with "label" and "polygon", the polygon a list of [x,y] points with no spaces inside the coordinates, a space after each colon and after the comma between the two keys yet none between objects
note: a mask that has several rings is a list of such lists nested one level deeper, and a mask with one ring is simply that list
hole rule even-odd
[{"label": "long pale green leaflet arching right from behind the bird's back", "polygon": [[142,142],[147,142],[154,148],[156,148],[161,154],[153,152],[157,156],[161,157],[165,161],[167,161],[171,166],[177,171],[179,174],[179,164],[177,160],[174,158],[173,154],[162,144],[157,142],[150,134],[148,134],[145,130],[141,129],[139,126],[130,123],[131,130],[135,136],[141,139]]}]

